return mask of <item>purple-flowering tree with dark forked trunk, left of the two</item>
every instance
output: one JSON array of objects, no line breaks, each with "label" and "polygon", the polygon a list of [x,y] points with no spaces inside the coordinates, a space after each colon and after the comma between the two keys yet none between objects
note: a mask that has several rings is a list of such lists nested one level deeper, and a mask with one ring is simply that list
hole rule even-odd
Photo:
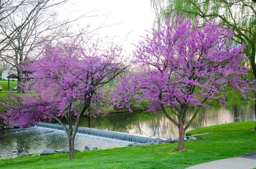
[{"label": "purple-flowering tree with dark forked trunk, left of the two", "polygon": [[75,158],[74,139],[82,116],[89,107],[90,113],[103,113],[109,84],[125,69],[118,62],[122,48],[108,44],[81,37],[42,44],[40,59],[22,67],[37,75],[29,85],[23,84],[29,92],[21,96],[22,102],[5,104],[9,109],[4,119],[20,127],[55,119],[68,135],[68,158]]}]

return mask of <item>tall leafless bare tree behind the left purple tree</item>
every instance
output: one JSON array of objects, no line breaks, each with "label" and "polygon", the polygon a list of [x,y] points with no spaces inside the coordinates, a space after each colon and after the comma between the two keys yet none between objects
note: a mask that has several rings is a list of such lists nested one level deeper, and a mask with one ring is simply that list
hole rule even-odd
[{"label": "tall leafless bare tree behind the left purple tree", "polygon": [[[65,36],[72,21],[58,21],[53,7],[67,0],[0,0],[0,58],[17,69],[18,92],[22,92],[21,64],[28,62],[38,44]],[[67,34],[65,34],[66,32]],[[64,34],[63,34],[64,33]],[[30,56],[30,57],[29,57]],[[35,58],[34,58],[35,59]]]}]

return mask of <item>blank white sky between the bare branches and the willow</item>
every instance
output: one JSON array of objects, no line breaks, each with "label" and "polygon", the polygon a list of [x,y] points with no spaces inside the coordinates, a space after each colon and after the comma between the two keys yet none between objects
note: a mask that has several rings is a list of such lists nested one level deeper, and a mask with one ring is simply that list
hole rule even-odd
[{"label": "blank white sky between the bare branches and the willow", "polygon": [[71,3],[73,4],[63,6],[58,12],[61,18],[71,20],[90,11],[93,12],[87,15],[105,15],[80,20],[79,26],[84,27],[88,23],[92,27],[110,26],[100,29],[98,33],[102,37],[116,36],[115,43],[123,45],[127,55],[134,49],[132,43],[136,44],[140,36],[146,34],[145,30],[153,27],[155,19],[150,0],[72,0]]}]

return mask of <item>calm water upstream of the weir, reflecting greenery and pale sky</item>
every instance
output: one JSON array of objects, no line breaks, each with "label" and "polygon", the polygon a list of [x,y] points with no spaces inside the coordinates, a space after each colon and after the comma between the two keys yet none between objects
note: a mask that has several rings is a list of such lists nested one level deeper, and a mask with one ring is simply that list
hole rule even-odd
[{"label": "calm water upstream of the weir, reflecting greenery and pale sky", "polygon": [[[188,111],[186,123],[193,116],[193,112],[193,109]],[[211,107],[200,110],[188,131],[197,127],[253,120],[255,120],[255,114],[251,102],[244,102],[234,107]],[[178,128],[161,112],[158,114],[133,112],[84,118],[79,126],[152,137],[178,137]]]}]

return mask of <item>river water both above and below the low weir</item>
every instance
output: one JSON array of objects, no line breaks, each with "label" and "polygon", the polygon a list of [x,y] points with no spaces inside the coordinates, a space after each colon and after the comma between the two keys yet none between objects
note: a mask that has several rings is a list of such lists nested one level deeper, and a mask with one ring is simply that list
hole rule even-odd
[{"label": "river water both above and below the low weir", "polygon": [[[187,113],[187,122],[193,115],[193,109]],[[202,109],[188,128],[188,131],[197,127],[216,124],[255,121],[253,104],[244,102],[234,107],[211,107]],[[95,129],[119,131],[124,133],[161,137],[178,137],[177,127],[161,112],[133,112],[124,114],[110,114],[96,118],[84,118],[80,126]],[[77,134],[75,147],[83,150],[85,145],[100,149],[127,146],[130,142],[109,139],[104,137]],[[66,149],[68,139],[66,133],[60,130],[37,129],[7,129],[0,130],[0,158],[16,157],[18,153],[42,152],[43,149]]]}]

